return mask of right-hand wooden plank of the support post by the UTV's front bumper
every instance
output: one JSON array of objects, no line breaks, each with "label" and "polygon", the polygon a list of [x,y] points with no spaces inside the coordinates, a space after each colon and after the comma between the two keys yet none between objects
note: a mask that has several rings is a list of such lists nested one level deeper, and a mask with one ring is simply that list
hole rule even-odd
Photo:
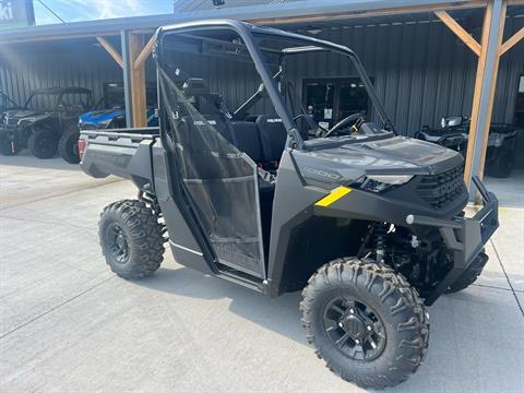
[{"label": "right-hand wooden plank of the support post by the UTV's front bumper", "polygon": [[489,91],[489,96],[488,96],[488,110],[486,115],[486,121],[485,121],[485,127],[484,129],[480,129],[479,131],[483,132],[483,150],[480,153],[480,166],[478,169],[478,174],[473,174],[477,175],[480,179],[484,178],[484,167],[486,165],[486,153],[488,150],[488,140],[489,140],[489,129],[490,129],[490,123],[491,123],[491,116],[493,114],[493,100],[495,100],[495,92],[497,88],[497,76],[499,74],[499,64],[500,64],[500,48],[502,45],[502,39],[504,37],[504,25],[505,25],[505,12],[508,10],[508,3],[505,0],[502,1],[502,8],[501,8],[501,13],[500,13],[500,19],[498,21],[498,37],[497,37],[497,59],[495,60],[495,64],[491,71],[491,74],[485,75],[485,78],[489,78],[491,80],[491,88]]}]

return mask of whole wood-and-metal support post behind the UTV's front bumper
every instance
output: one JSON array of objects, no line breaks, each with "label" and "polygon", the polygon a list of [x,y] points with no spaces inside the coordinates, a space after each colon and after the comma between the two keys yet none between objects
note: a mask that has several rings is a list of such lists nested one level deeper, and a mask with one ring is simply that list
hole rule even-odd
[{"label": "whole wood-and-metal support post behind the UTV's front bumper", "polygon": [[505,0],[490,0],[484,16],[480,56],[475,79],[472,121],[464,169],[464,180],[469,189],[472,176],[478,175],[481,177],[484,172],[499,69],[499,49],[505,22]]}]

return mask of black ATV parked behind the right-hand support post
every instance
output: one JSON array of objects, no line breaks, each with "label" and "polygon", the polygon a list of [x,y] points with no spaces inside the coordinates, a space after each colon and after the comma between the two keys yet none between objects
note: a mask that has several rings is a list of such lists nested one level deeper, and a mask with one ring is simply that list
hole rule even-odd
[{"label": "black ATV parked behind the right-hand support post", "polygon": [[[469,136],[469,118],[454,116],[443,118],[440,129],[424,127],[415,138],[438,143],[466,154]],[[512,124],[491,123],[489,127],[486,171],[488,175],[507,178],[515,167],[515,139],[517,130]]]}]

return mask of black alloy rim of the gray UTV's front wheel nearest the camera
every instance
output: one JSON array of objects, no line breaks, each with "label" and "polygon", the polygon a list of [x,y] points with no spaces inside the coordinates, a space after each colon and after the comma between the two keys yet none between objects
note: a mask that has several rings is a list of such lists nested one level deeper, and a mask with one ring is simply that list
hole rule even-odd
[{"label": "black alloy rim of the gray UTV's front wheel nearest the camera", "polygon": [[324,307],[324,331],[333,346],[354,360],[371,361],[385,347],[385,326],[360,300],[338,296]]}]

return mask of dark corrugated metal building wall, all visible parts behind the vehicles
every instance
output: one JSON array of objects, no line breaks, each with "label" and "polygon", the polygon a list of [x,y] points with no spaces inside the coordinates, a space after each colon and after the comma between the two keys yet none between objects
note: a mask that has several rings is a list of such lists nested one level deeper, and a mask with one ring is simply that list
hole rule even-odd
[{"label": "dark corrugated metal building wall, all visible parts behind the vehicles", "polygon": [[[507,22],[507,36],[524,26],[524,17]],[[443,116],[469,115],[476,71],[476,56],[439,22],[349,26],[327,29],[318,35],[353,48],[373,79],[397,130],[413,134],[421,126],[438,126]],[[23,103],[33,88],[83,86],[102,96],[103,82],[121,81],[122,72],[93,39],[70,45],[68,50],[43,52],[49,44],[36,44],[19,51],[16,47],[0,53],[0,87]],[[32,44],[35,45],[35,44]],[[44,47],[46,48],[46,47]],[[212,90],[223,93],[236,107],[258,86],[251,70],[238,63],[189,61],[181,64],[205,78]],[[155,73],[148,61],[147,78]],[[353,76],[341,58],[315,57],[295,66],[300,78]],[[524,45],[503,56],[493,121],[512,122],[519,75],[524,73]],[[301,81],[296,81],[301,87]]]}]

